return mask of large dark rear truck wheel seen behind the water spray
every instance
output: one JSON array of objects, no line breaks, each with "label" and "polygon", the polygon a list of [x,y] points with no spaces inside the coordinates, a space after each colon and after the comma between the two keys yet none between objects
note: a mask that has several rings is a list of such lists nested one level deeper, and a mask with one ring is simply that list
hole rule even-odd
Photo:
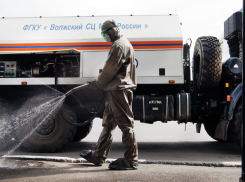
[{"label": "large dark rear truck wheel seen behind the water spray", "polygon": [[[25,118],[32,117],[23,113],[30,112],[37,103],[43,104],[49,100],[50,96],[47,94],[36,95],[28,99],[18,112],[16,133],[22,143],[21,146],[29,151],[55,152],[71,142],[75,135],[76,127],[68,124],[59,112],[53,113],[48,119],[42,121],[49,114],[49,111],[44,110],[37,117],[33,117],[34,119],[26,119],[23,122]],[[75,112],[66,103],[62,104],[60,110],[67,119],[74,122],[77,120]]]}]

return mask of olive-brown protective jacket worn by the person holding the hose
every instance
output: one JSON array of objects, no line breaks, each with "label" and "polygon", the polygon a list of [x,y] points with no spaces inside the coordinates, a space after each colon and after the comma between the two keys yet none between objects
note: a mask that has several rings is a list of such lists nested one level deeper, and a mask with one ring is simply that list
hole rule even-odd
[{"label": "olive-brown protective jacket worn by the person holding the hose", "polygon": [[135,55],[131,43],[124,37],[113,42],[107,60],[97,79],[97,85],[108,90],[135,90]]}]

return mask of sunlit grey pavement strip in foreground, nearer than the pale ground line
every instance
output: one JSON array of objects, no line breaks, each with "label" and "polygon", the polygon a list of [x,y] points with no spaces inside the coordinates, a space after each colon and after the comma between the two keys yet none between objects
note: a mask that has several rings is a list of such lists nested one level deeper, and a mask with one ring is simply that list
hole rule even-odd
[{"label": "sunlit grey pavement strip in foreground, nearer than the pale ground line", "polygon": [[[3,182],[104,181],[104,182],[237,182],[240,168],[141,164],[138,170],[109,170],[84,163],[6,161],[0,168]],[[11,164],[10,164],[11,163]]]}]

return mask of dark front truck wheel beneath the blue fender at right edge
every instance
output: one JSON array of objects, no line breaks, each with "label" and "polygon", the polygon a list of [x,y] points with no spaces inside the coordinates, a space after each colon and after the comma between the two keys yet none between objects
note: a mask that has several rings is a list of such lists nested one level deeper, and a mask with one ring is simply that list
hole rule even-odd
[{"label": "dark front truck wheel beneath the blue fender at right edge", "polygon": [[241,124],[242,124],[242,99],[240,99],[236,105],[233,119],[230,121],[228,128],[228,137],[232,138],[232,140],[238,145],[241,144]]}]

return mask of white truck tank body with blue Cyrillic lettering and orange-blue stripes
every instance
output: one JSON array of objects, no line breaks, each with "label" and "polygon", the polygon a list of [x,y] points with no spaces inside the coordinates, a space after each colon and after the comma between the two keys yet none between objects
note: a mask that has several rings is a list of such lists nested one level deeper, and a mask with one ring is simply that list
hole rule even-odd
[{"label": "white truck tank body with blue Cyrillic lettering and orange-blue stripes", "polygon": [[[138,84],[183,84],[183,39],[177,15],[101,16],[0,19],[0,54],[80,53],[78,77],[59,77],[58,84],[84,84],[103,68],[111,44],[101,36],[101,25],[114,19],[135,49]],[[1,55],[0,55],[1,57]],[[7,60],[16,61],[18,60]],[[11,75],[11,74],[10,74]],[[1,85],[40,84],[33,78],[2,75]],[[38,78],[54,85],[54,79]]]}]

